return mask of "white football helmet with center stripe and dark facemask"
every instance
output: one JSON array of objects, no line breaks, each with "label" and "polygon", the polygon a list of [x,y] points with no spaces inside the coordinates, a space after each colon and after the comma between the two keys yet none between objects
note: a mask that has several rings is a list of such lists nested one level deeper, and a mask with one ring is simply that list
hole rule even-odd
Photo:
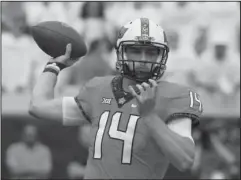
[{"label": "white football helmet with center stripe and dark facemask", "polygon": [[[162,49],[160,51],[162,53],[159,53],[156,62],[131,60],[127,58],[125,53],[125,47],[128,45],[154,46],[159,50]],[[164,74],[169,52],[166,34],[160,25],[148,18],[138,18],[124,25],[119,31],[115,48],[117,53],[116,69],[123,76],[144,82],[150,78],[157,80]],[[150,72],[146,73],[144,78],[143,76],[138,76],[135,72],[135,62],[152,64]],[[130,65],[133,65],[133,70],[130,70]]]}]

